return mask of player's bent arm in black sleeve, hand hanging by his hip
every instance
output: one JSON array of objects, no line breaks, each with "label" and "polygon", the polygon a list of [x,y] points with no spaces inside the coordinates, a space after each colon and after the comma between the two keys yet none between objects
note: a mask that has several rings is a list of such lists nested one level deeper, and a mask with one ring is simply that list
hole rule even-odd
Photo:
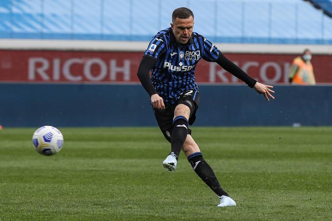
[{"label": "player's bent arm in black sleeve, hand hanging by his hip", "polygon": [[141,60],[141,63],[138,67],[137,76],[141,81],[145,91],[150,95],[150,100],[152,107],[156,109],[165,109],[164,100],[157,94],[156,89],[154,88],[151,78],[150,70],[154,67],[157,60],[144,56]]}]

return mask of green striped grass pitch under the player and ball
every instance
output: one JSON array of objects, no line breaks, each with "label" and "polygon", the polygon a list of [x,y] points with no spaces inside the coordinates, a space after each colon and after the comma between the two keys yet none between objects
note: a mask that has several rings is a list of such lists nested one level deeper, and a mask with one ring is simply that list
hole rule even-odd
[{"label": "green striped grass pitch under the player and ball", "polygon": [[35,129],[0,130],[1,221],[332,219],[332,127],[193,127],[228,208],[183,153],[164,170],[156,127],[59,128],[52,157],[34,150]]}]

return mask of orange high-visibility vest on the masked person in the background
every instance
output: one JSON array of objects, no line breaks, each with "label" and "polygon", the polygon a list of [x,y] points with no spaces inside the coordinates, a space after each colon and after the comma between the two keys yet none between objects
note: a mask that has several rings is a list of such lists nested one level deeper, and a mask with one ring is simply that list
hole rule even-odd
[{"label": "orange high-visibility vest on the masked person in the background", "polygon": [[292,79],[294,84],[316,84],[315,77],[313,75],[313,68],[310,61],[304,62],[301,57],[297,57],[293,60],[293,64],[296,64],[299,69]]}]

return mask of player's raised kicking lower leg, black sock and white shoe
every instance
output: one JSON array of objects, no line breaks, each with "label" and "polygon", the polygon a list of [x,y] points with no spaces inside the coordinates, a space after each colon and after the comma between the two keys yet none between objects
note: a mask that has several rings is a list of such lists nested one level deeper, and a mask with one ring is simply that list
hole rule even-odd
[{"label": "player's raised kicking lower leg, black sock and white shoe", "polygon": [[167,171],[174,171],[178,162],[183,143],[187,138],[188,121],[184,116],[178,116],[173,121],[171,136],[171,152],[163,162]]}]

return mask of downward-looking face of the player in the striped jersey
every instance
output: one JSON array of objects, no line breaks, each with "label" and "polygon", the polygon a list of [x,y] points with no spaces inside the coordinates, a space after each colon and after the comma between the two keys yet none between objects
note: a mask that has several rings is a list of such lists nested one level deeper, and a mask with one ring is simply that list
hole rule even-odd
[{"label": "downward-looking face of the player in the striped jersey", "polygon": [[194,28],[194,19],[190,16],[188,19],[176,18],[174,23],[170,23],[173,34],[177,42],[185,44],[191,37],[192,29]]}]

